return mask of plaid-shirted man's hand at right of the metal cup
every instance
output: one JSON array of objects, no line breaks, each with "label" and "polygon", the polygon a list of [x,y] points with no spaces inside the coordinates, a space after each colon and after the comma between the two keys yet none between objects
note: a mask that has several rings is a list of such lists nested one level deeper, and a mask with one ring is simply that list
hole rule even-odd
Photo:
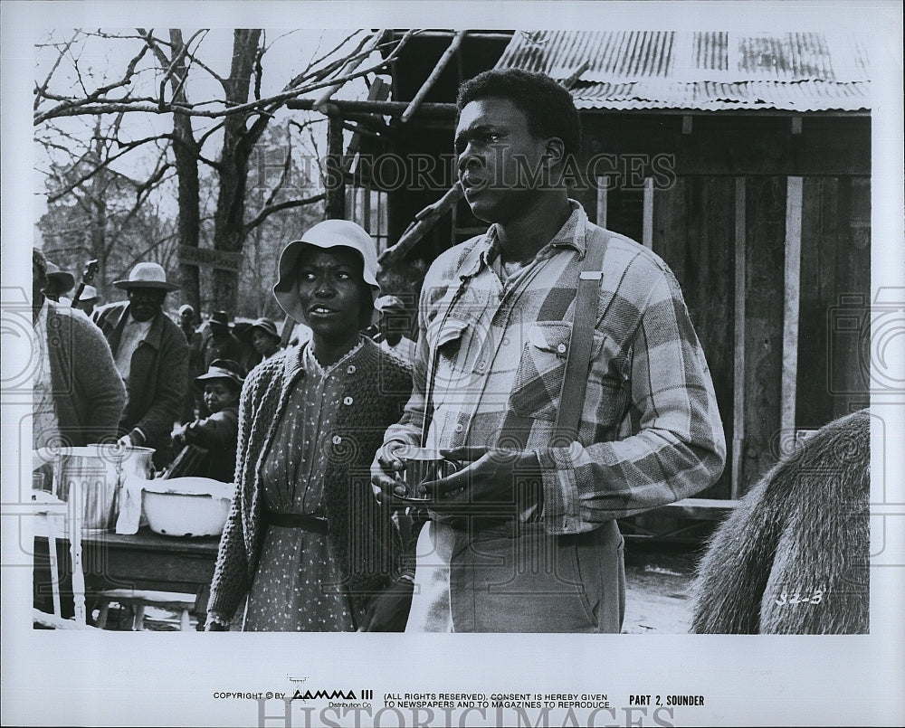
[{"label": "plaid-shirted man's hand at right of the metal cup", "polygon": [[425,483],[432,511],[448,515],[511,517],[543,498],[538,456],[498,448],[441,450],[443,457],[472,462],[458,472]]}]

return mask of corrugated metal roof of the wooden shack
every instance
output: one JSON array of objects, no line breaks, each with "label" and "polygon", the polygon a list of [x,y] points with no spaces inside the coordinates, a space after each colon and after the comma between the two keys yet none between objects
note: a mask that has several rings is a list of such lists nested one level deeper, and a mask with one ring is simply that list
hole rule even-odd
[{"label": "corrugated metal roof of the wooden shack", "polygon": [[827,33],[515,33],[497,68],[567,79],[579,109],[870,109],[867,43]]}]

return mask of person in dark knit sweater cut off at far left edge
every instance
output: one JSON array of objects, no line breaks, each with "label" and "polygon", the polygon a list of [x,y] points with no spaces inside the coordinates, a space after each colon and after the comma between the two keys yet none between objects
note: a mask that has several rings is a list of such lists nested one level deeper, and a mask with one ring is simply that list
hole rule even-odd
[{"label": "person in dark knit sweater cut off at far left edge", "polygon": [[33,449],[81,447],[115,438],[126,388],[110,346],[81,311],[47,298],[43,293],[47,286],[47,260],[35,248],[32,322],[38,364],[33,383]]}]

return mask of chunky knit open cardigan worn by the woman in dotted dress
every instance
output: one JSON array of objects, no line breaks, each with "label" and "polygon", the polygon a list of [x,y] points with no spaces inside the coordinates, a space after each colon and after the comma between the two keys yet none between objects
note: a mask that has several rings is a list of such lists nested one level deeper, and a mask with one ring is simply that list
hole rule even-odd
[{"label": "chunky knit open cardigan worn by the woman in dotted dress", "polygon": [[[307,345],[307,344],[304,344]],[[300,345],[259,364],[243,386],[239,402],[236,491],[224,527],[211,584],[208,611],[233,618],[257,571],[266,526],[260,472],[273,443],[289,394],[304,376]],[[370,466],[386,428],[398,421],[412,390],[411,371],[365,339],[347,364],[343,406],[328,443],[325,496],[329,542],[353,610],[393,581],[402,547],[389,513],[370,486]]]}]

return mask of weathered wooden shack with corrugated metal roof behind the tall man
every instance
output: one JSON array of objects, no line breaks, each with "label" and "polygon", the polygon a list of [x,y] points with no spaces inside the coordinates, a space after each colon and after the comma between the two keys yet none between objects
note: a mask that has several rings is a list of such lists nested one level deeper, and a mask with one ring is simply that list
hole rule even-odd
[{"label": "weathered wooden shack with corrugated metal roof behind the tall man", "polygon": [[[723,477],[700,496],[737,498],[800,430],[869,403],[863,38],[380,33],[385,49],[405,38],[382,99],[372,93],[333,113],[359,125],[359,154],[433,159],[437,172],[432,184],[415,165],[403,165],[393,184],[369,175],[367,164],[348,175],[350,187],[386,205],[385,261],[430,261],[484,228],[446,194],[459,83],[493,67],[543,71],[570,88],[581,113],[586,178],[574,196],[592,220],[652,248],[681,283],[729,445]],[[361,205],[346,194],[353,204],[345,216],[354,217]],[[406,236],[419,217],[417,234]]]}]

